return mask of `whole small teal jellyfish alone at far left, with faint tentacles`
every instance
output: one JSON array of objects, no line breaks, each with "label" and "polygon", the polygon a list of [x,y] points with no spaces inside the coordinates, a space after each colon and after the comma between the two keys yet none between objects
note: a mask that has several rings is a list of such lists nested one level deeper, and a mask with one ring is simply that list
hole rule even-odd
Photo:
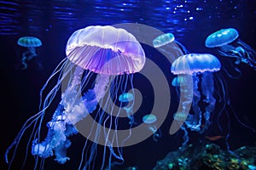
[{"label": "whole small teal jellyfish alone at far left, with faint tentacles", "polygon": [[[22,54],[21,58],[21,69],[26,70],[26,62],[35,59],[38,56],[38,54],[36,53],[36,48],[40,47],[42,45],[42,42],[37,37],[20,37],[17,43],[21,47],[27,48],[26,52]],[[36,59],[36,62],[39,66],[41,66],[38,59]]]}]

